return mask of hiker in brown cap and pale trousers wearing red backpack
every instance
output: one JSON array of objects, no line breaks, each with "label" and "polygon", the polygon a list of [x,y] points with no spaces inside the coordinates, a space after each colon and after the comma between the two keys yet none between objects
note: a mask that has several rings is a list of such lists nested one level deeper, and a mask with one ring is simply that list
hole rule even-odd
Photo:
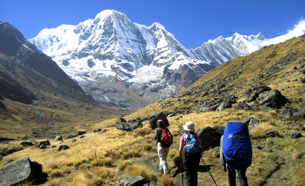
[{"label": "hiker in brown cap and pale trousers wearing red backpack", "polygon": [[170,174],[170,170],[167,166],[167,154],[170,150],[170,145],[173,143],[173,135],[164,126],[163,120],[159,119],[157,121],[158,128],[155,129],[153,137],[157,140],[157,150],[160,158],[159,169],[161,174]]}]

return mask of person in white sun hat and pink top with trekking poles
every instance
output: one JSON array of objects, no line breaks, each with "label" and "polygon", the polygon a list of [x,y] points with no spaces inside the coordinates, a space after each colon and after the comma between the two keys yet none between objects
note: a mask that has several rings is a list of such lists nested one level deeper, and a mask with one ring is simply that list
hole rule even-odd
[{"label": "person in white sun hat and pink top with trekking poles", "polygon": [[[186,122],[183,126],[185,134],[181,135],[179,157],[183,153],[183,168],[185,170],[187,186],[197,186],[197,168],[202,156],[201,141],[194,128],[193,122]],[[183,180],[182,180],[183,181]]]}]

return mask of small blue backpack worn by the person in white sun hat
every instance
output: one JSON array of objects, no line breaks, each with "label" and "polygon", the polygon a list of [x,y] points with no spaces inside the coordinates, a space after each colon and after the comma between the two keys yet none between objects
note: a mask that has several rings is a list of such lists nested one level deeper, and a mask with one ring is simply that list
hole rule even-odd
[{"label": "small blue backpack worn by the person in white sun hat", "polygon": [[184,156],[199,156],[202,148],[199,146],[199,142],[195,134],[183,134],[184,135]]}]

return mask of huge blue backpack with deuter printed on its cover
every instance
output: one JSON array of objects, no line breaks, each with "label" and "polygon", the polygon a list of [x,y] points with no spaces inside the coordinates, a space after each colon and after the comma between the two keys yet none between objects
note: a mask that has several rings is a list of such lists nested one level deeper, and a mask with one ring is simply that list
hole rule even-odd
[{"label": "huge blue backpack with deuter printed on its cover", "polygon": [[252,164],[252,145],[245,123],[228,122],[224,127],[224,158],[230,169],[244,169]]}]

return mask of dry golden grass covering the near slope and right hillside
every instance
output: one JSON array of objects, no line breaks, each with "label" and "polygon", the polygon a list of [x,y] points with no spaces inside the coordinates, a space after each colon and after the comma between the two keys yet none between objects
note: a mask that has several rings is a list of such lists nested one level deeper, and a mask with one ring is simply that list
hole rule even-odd
[{"label": "dry golden grass covering the near slope and right hillside", "polygon": [[[292,71],[293,67],[298,67],[299,62],[305,59],[302,56],[305,49],[305,42],[303,40],[303,38],[294,38],[286,41],[285,43],[267,46],[266,48],[262,48],[246,57],[236,57],[233,60],[230,60],[229,62],[211,70],[188,89],[196,91],[197,88],[208,88],[212,83],[217,83],[217,81],[214,82],[214,80],[222,78],[225,74],[239,74],[239,71],[243,71],[236,79],[230,79],[230,77],[226,78],[226,80],[228,80],[226,86],[236,83],[233,86],[232,91],[226,92],[226,95],[239,95],[239,99],[244,100],[246,97],[242,97],[241,93],[246,88],[250,88],[255,85],[253,84],[253,81],[251,81],[254,79],[254,82],[257,81],[258,83],[265,83],[272,89],[276,88],[281,90],[283,88],[284,90],[281,91],[282,95],[285,95],[286,98],[292,102],[289,106],[291,108],[303,110],[302,108],[298,107],[298,105],[300,100],[304,98],[304,93],[299,93],[300,89],[304,88],[304,86],[298,82],[286,82],[287,80],[292,81],[296,78],[303,77],[302,75],[295,76],[299,74],[299,72]],[[276,55],[273,53],[276,53]],[[264,70],[265,68],[268,70],[268,68],[270,69],[271,67],[278,65],[278,62],[288,59],[287,56],[290,56],[290,58],[292,56],[291,59],[293,60],[291,60],[290,64],[280,71],[277,71],[275,74],[270,74],[269,77],[261,80],[255,80],[259,74],[266,72],[266,70]],[[242,63],[245,64],[242,65]],[[241,84],[243,84],[242,88],[239,88]],[[287,86],[289,86],[289,88],[286,88]],[[204,92],[199,93],[202,95]],[[200,101],[200,99],[203,98],[206,100],[213,98],[211,96],[213,95],[207,95],[205,97],[199,96],[196,98],[187,96],[181,97],[180,99],[197,99]],[[172,111],[175,107],[193,107],[192,102],[190,102],[190,104],[184,104],[182,101],[177,100],[178,97],[175,96],[173,98],[163,100],[162,102],[155,102],[139,111],[132,113],[131,115],[127,115],[125,119],[132,119],[138,116],[147,117],[151,112],[165,110]],[[253,105],[253,103],[251,105]],[[255,119],[266,120],[266,122],[261,122],[259,126],[251,128],[251,135],[263,134],[269,130],[277,130],[281,136],[285,136],[285,132],[292,130],[284,124],[284,122],[291,122],[291,120],[284,119],[282,115],[276,111],[255,112],[230,108],[219,112],[198,114],[191,113],[189,115],[183,115],[183,117],[178,120],[176,120],[178,116],[170,117],[168,118],[170,122],[169,129],[175,136],[175,143],[173,144],[168,157],[170,168],[175,167],[174,159],[178,152],[177,141],[179,139],[179,134],[182,132],[181,126],[184,125],[185,122],[193,121],[196,125],[196,129],[200,129],[201,127],[205,126],[224,126],[225,123],[232,121],[232,119],[235,117],[239,117],[244,120],[250,116]],[[77,119],[75,121],[77,121]],[[57,183],[57,185],[98,185],[98,183],[104,183],[104,185],[117,185],[120,179],[131,175],[131,173],[120,170],[122,164],[126,164],[124,158],[128,157],[127,155],[130,154],[136,156],[128,159],[131,161],[131,164],[145,164],[147,170],[153,170],[155,173],[158,173],[158,157],[156,155],[156,148],[154,145],[155,142],[152,139],[152,131],[149,129],[148,122],[144,122],[144,127],[141,129],[136,129],[134,132],[124,132],[117,130],[114,127],[108,127],[111,126],[113,122],[115,122],[115,119],[106,120],[91,127],[91,129],[101,128],[108,130],[101,135],[90,132],[85,134],[86,137],[84,138],[77,137],[77,142],[75,143],[71,142],[72,139],[64,139],[64,143],[62,144],[70,146],[69,150],[58,152],[58,147],[49,148],[46,150],[38,150],[31,147],[26,148],[17,153],[5,156],[4,159],[0,161],[0,168],[4,167],[2,164],[6,160],[12,158],[19,160],[25,156],[30,156],[31,160],[43,164],[43,169],[48,172],[49,175],[54,176],[48,178],[49,181],[43,185],[56,185],[55,183]],[[303,121],[301,123],[304,124]],[[301,134],[305,136],[305,133],[302,131]],[[268,147],[268,143],[270,141],[274,141],[274,146]],[[304,142],[304,137],[299,139],[289,139],[285,137],[267,138],[261,140],[253,139],[253,164],[247,169],[249,184],[263,184],[265,179],[275,170],[283,167],[282,165],[278,164],[281,163],[280,161],[282,159],[285,159],[283,161],[285,161],[285,165],[288,167],[288,174],[282,175],[282,178],[278,180],[278,183],[285,181],[283,184],[287,185],[304,184],[304,157],[300,159],[299,164],[294,164],[296,155],[305,151],[305,147],[303,145]],[[19,143],[20,142],[12,142],[1,146],[2,149],[4,147],[14,148],[13,146],[18,146]],[[52,140],[51,144],[59,146],[59,142]],[[264,146],[264,148],[262,150],[255,148],[258,145]],[[265,156],[268,156],[270,159],[263,159]],[[96,166],[95,161],[98,160],[100,162],[106,162],[106,158],[110,158],[108,161],[111,162],[111,165],[107,165],[110,172],[106,171],[106,176],[102,176],[99,173],[102,171],[100,168],[103,166]],[[210,165],[210,172],[215,178],[217,185],[227,185],[227,174],[221,171],[219,159],[215,158],[215,151],[206,151],[203,154],[203,160],[207,165]],[[81,166],[83,169],[78,166],[79,164],[84,164]],[[88,169],[89,164],[91,164],[90,169]],[[64,171],[65,169],[69,169],[71,172],[68,173],[69,171]],[[61,171],[62,174],[67,176],[56,177],[56,175],[58,175],[54,173],[56,171]],[[145,173],[145,175],[147,174],[148,173]],[[149,177],[154,180],[158,178],[158,175],[150,172]],[[181,185],[181,181],[179,180],[181,180],[179,175],[173,179],[176,185]],[[199,170],[198,180],[199,185],[213,184],[210,175],[202,167],[200,167]]]}]

